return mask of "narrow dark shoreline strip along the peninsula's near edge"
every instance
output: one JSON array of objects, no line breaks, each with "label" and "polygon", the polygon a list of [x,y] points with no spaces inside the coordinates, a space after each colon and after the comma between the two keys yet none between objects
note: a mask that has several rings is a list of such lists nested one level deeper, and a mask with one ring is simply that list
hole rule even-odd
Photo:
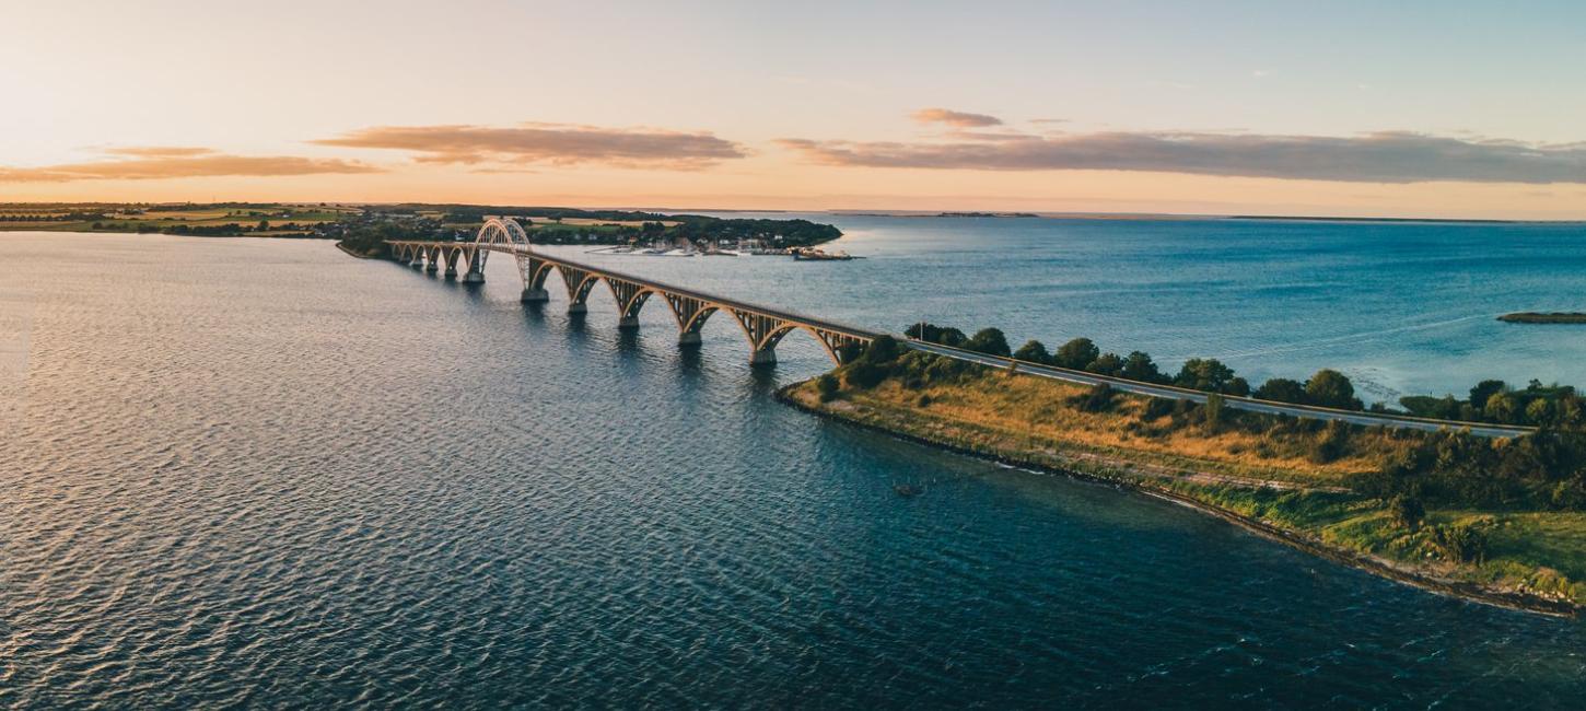
[{"label": "narrow dark shoreline strip along the peninsula's near edge", "polygon": [[[1297,533],[1297,532],[1285,530],[1285,528],[1280,528],[1277,525],[1267,524],[1264,521],[1251,519],[1251,517],[1243,516],[1240,513],[1229,511],[1229,509],[1226,509],[1223,506],[1216,506],[1216,505],[1212,505],[1212,503],[1207,503],[1207,502],[1201,502],[1201,500],[1196,500],[1193,497],[1188,497],[1185,494],[1180,494],[1180,492],[1175,492],[1175,490],[1170,490],[1170,489],[1166,489],[1166,487],[1151,486],[1151,484],[1148,484],[1145,481],[1131,479],[1131,478],[1121,478],[1121,476],[1105,476],[1105,475],[1101,475],[1101,473],[1083,471],[1080,468],[1072,468],[1072,467],[1053,467],[1053,465],[1034,462],[1034,460],[1029,460],[1029,459],[1017,459],[1017,457],[1009,457],[1009,455],[1004,455],[1004,454],[983,452],[983,451],[971,449],[971,448],[966,448],[966,446],[961,446],[961,444],[955,444],[955,443],[950,443],[950,441],[945,441],[945,440],[936,440],[936,438],[931,438],[928,435],[921,435],[921,433],[915,433],[915,432],[899,432],[899,430],[882,427],[882,425],[877,425],[877,424],[872,424],[872,422],[864,422],[864,421],[860,421],[856,417],[847,417],[842,413],[834,411],[834,409],[810,406],[810,405],[807,405],[804,402],[799,402],[798,398],[795,398],[791,395],[793,390],[796,390],[799,387],[804,387],[807,382],[809,381],[799,381],[799,382],[793,382],[793,384],[779,387],[776,390],[777,402],[780,402],[783,405],[788,405],[788,406],[791,406],[795,409],[814,414],[817,417],[831,421],[831,422],[842,422],[845,425],[852,425],[852,427],[858,427],[858,429],[863,429],[863,430],[869,430],[869,432],[877,432],[877,433],[882,433],[882,435],[888,435],[888,436],[896,438],[896,440],[902,440],[902,441],[909,441],[909,443],[915,443],[915,444],[923,444],[923,446],[928,446],[928,448],[942,449],[942,451],[948,451],[948,452],[953,452],[953,454],[980,459],[980,460],[985,460],[985,462],[994,462],[994,463],[1001,463],[1001,465],[1007,465],[1007,467],[1017,467],[1017,468],[1021,468],[1021,470],[1026,470],[1026,471],[1039,471],[1039,473],[1047,473],[1047,475],[1067,476],[1067,478],[1077,479],[1077,481],[1088,481],[1088,482],[1094,482],[1094,484],[1110,484],[1113,487],[1124,487],[1128,490],[1132,490],[1132,492],[1137,492],[1137,494],[1142,494],[1142,495],[1147,495],[1147,497],[1161,498],[1161,500],[1166,500],[1166,502],[1172,502],[1172,503],[1177,503],[1177,505],[1182,505],[1182,506],[1193,508],[1193,509],[1196,509],[1196,511],[1199,511],[1202,514],[1209,514],[1209,516],[1213,516],[1216,519],[1223,519],[1224,522],[1239,525],[1240,528],[1245,528],[1247,532],[1251,532],[1251,533],[1255,533],[1258,536],[1262,536],[1262,538],[1267,538],[1267,540],[1272,540],[1272,541],[1277,541],[1277,543],[1283,543],[1283,544],[1286,544],[1289,548],[1294,548],[1297,551],[1316,555],[1320,559],[1331,560],[1331,562],[1340,563],[1340,565],[1347,565],[1347,567],[1351,567],[1351,568],[1356,568],[1356,570],[1362,570],[1362,571],[1372,573],[1372,575],[1375,575],[1378,578],[1385,578],[1385,579],[1389,579],[1389,581],[1394,581],[1394,582],[1399,582],[1399,584],[1412,586],[1412,587],[1416,587],[1416,589],[1421,589],[1421,590],[1426,590],[1426,592],[1432,592],[1432,594],[1437,594],[1437,595],[1454,597],[1454,598],[1472,601],[1472,603],[1481,603],[1481,605],[1489,605],[1489,606],[1497,606],[1497,608],[1505,608],[1505,609],[1515,609],[1515,611],[1534,613],[1534,614],[1545,614],[1545,616],[1551,616],[1551,617],[1565,617],[1565,619],[1578,619],[1580,614],[1581,614],[1581,611],[1586,611],[1586,606],[1572,603],[1569,600],[1553,600],[1553,598],[1546,598],[1546,597],[1540,597],[1540,595],[1529,595],[1529,594],[1508,592],[1508,590],[1496,590],[1496,589],[1491,589],[1491,587],[1486,587],[1486,586],[1481,586],[1481,584],[1477,584],[1477,582],[1446,579],[1446,578],[1429,575],[1429,573],[1424,573],[1424,571],[1419,571],[1419,570],[1405,568],[1405,567],[1400,567],[1400,565],[1393,563],[1389,560],[1385,560],[1385,559],[1380,559],[1380,557],[1373,557],[1373,555],[1367,555],[1367,554],[1362,554],[1362,552],[1358,552],[1358,551],[1350,551],[1350,549],[1343,549],[1343,548],[1337,548],[1337,546],[1329,546],[1329,544],[1326,544],[1323,541],[1313,540],[1312,536],[1305,536],[1305,535]],[[1126,460],[1112,462],[1112,463],[1128,465]]]}]

